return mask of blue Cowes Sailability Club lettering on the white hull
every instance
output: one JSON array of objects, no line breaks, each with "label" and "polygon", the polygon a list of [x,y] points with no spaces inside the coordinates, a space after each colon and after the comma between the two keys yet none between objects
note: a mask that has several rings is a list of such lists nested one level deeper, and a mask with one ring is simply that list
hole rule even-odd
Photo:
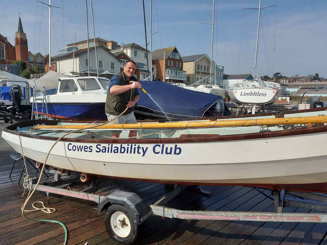
[{"label": "blue Cowes Sailability Club lettering on the white hull", "polygon": [[[96,144],[95,149],[93,145],[75,145],[73,143],[67,144],[67,150],[72,152],[96,152],[109,154],[138,154],[145,156],[148,151],[148,146],[143,147],[138,144]],[[164,144],[156,144],[152,147],[154,154],[162,155],[180,155],[181,147],[178,145],[165,146]]]}]

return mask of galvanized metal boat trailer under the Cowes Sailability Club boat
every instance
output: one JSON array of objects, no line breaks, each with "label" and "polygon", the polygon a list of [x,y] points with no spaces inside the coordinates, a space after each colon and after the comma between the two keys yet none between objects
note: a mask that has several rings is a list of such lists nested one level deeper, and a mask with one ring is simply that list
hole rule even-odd
[{"label": "galvanized metal boat trailer under the Cowes Sailability Club boat", "polygon": [[[45,169],[45,171],[55,174],[54,181],[40,184],[36,189],[47,194],[48,203],[49,193],[97,203],[98,208],[95,209],[98,210],[98,214],[103,210],[107,210],[105,213],[107,232],[115,241],[123,244],[131,244],[136,241],[139,225],[151,215],[183,220],[327,223],[327,214],[324,213],[283,213],[283,207],[287,206],[327,211],[327,196],[323,194],[273,189],[272,196],[276,212],[189,211],[165,206],[185,190],[186,186],[174,185],[174,188],[168,194],[154,204],[148,205],[136,193],[122,191],[118,188],[113,188],[112,192],[107,195],[96,194],[100,187],[108,186],[108,181],[112,184],[115,181],[113,179],[107,179],[102,183],[99,181],[97,184],[94,181],[89,188],[72,190],[68,186],[76,182],[78,176],[71,176],[70,172],[59,174],[57,170],[53,169]],[[67,177],[61,179],[60,175],[66,175]],[[36,182],[37,179],[34,177],[30,179],[29,184],[32,188],[35,188]],[[286,194],[300,198],[286,198]]]}]

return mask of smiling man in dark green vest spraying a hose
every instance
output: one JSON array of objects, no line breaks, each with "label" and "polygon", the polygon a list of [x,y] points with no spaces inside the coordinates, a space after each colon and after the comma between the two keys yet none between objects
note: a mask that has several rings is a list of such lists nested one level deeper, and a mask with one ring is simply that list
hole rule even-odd
[{"label": "smiling man in dark green vest spraying a hose", "polygon": [[[129,60],[125,63],[123,71],[117,73],[110,80],[110,85],[108,87],[105,113],[107,115],[108,121],[120,115],[126,107],[127,111],[116,118],[110,124],[124,124],[124,123],[137,123],[133,107],[138,102],[140,95],[137,89],[141,89],[142,85],[133,76],[136,70],[136,63]],[[132,81],[133,83],[129,84]],[[130,93],[132,93],[131,99]],[[119,138],[121,131],[113,131],[112,137]],[[136,134],[136,131],[131,131],[131,133]]]}]

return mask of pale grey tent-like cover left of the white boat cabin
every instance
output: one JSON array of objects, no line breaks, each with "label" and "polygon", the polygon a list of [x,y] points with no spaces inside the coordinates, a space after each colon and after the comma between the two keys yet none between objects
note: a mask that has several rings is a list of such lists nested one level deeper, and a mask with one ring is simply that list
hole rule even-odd
[{"label": "pale grey tent-like cover left of the white boat cabin", "polygon": [[44,87],[45,90],[57,89],[60,77],[67,77],[67,75],[50,70],[38,79],[29,79],[28,83],[31,88],[37,87],[38,89],[43,89]]}]

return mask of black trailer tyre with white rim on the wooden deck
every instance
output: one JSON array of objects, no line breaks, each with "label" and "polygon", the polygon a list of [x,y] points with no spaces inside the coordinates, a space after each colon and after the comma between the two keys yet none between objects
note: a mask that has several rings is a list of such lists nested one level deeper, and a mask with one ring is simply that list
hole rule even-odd
[{"label": "black trailer tyre with white rim on the wooden deck", "polygon": [[115,241],[122,244],[133,244],[136,241],[139,227],[125,206],[109,206],[105,214],[105,224],[107,232]]}]

